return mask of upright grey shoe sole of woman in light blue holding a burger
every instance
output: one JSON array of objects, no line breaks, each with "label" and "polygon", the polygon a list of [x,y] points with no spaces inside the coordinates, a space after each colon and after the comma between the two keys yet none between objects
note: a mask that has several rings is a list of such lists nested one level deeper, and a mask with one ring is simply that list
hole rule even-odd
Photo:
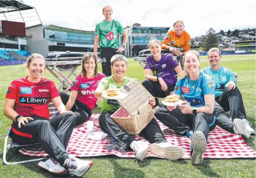
[{"label": "upright grey shoe sole of woman in light blue holding a burger", "polygon": [[202,131],[196,131],[192,135],[191,146],[193,147],[193,153],[191,156],[192,164],[203,164],[203,153],[207,147],[207,141]]}]

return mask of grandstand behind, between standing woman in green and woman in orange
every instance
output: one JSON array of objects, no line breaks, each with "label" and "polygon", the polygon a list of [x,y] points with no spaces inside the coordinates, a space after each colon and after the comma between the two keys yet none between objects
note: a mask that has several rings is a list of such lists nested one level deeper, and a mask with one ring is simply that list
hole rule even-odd
[{"label": "grandstand behind, between standing woman in green and woman in orange", "polygon": [[[124,51],[125,56],[136,56],[139,52],[147,49],[147,44],[150,38],[155,37],[160,42],[165,37],[166,33],[170,30],[170,27],[130,27],[125,29],[128,35],[128,42]],[[123,36],[121,38],[121,44],[123,43]]]}]

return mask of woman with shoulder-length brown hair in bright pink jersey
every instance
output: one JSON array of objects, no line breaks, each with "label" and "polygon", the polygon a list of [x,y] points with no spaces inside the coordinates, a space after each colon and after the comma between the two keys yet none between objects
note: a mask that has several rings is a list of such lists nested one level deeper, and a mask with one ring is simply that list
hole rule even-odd
[{"label": "woman with shoulder-length brown hair in bright pink jersey", "polygon": [[106,75],[98,73],[96,57],[91,53],[86,53],[82,60],[82,70],[72,82],[70,96],[64,92],[59,92],[66,109],[73,111],[76,115],[76,125],[90,118],[91,110],[97,102],[94,92],[103,77]]}]

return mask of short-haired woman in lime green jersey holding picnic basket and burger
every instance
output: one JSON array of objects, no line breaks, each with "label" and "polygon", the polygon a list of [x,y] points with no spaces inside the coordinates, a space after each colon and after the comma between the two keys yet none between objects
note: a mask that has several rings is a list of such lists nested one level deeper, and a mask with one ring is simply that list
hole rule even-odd
[{"label": "short-haired woman in lime green jersey holding picnic basket and burger", "polygon": [[[95,91],[95,97],[103,98],[102,94],[109,88],[120,89],[127,84],[131,78],[124,76],[127,71],[127,58],[122,54],[116,54],[111,58],[111,69],[113,75],[101,79]],[[155,105],[155,98],[150,98],[150,105]],[[123,130],[114,120],[111,115],[117,111],[121,106],[117,100],[104,99],[99,116],[100,128],[103,132],[112,136],[120,147],[124,149],[132,148],[136,152],[136,158],[143,161],[148,151],[149,142],[150,152],[166,159],[179,159],[183,157],[184,150],[181,147],[172,146],[165,140],[165,136],[160,129],[157,121],[153,118],[149,124],[141,131],[145,139],[148,141],[137,141],[127,131]]]}]

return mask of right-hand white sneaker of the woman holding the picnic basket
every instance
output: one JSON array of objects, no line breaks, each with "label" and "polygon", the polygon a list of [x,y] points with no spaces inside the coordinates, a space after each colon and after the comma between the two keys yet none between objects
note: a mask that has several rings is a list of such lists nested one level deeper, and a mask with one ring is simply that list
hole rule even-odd
[{"label": "right-hand white sneaker of the woman holding the picnic basket", "polygon": [[171,143],[153,143],[150,145],[150,152],[156,156],[166,159],[176,160],[184,156],[184,150],[181,147],[171,145]]}]

